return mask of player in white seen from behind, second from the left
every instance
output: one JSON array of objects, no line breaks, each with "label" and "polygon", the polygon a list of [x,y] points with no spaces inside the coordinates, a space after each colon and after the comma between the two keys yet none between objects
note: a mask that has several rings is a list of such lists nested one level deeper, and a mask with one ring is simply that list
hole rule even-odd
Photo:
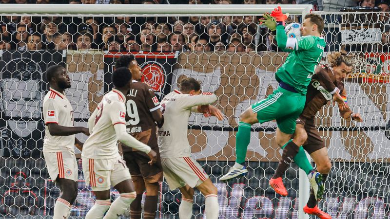
[{"label": "player in white seen from behind, second from the left", "polygon": [[[130,70],[126,67],[117,68],[112,81],[114,89],[103,96],[88,119],[91,135],[85,141],[81,154],[85,182],[91,184],[96,196],[95,205],[85,216],[86,219],[101,218],[107,209],[104,219],[117,219],[137,196],[129,170],[119,155],[118,140],[147,153],[151,165],[156,162],[156,152],[126,132],[125,93],[130,90]],[[111,185],[120,193],[112,204]]]}]

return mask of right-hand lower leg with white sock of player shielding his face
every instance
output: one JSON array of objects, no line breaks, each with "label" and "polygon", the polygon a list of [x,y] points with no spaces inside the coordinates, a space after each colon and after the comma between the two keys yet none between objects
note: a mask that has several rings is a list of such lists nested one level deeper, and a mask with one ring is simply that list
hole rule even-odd
[{"label": "right-hand lower leg with white sock of player shielding his face", "polygon": [[197,189],[204,195],[205,200],[205,215],[206,219],[218,219],[219,209],[218,195],[215,185],[210,179],[206,179],[200,185],[196,186]]}]

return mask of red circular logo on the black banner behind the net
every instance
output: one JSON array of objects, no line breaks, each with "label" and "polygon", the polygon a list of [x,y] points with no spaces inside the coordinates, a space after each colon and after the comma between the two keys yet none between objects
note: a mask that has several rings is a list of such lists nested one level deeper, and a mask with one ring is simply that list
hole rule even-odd
[{"label": "red circular logo on the black banner behind the net", "polygon": [[160,92],[165,86],[165,69],[155,61],[145,62],[141,66],[142,78],[141,81],[147,83],[153,91]]}]

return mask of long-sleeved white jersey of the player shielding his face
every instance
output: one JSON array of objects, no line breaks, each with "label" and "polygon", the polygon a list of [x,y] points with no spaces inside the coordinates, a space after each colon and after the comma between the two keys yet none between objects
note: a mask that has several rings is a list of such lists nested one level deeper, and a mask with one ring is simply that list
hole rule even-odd
[{"label": "long-sleeved white jersey of the player shielding his face", "polygon": [[162,99],[160,105],[163,110],[164,125],[158,129],[158,147],[161,157],[191,156],[191,147],[187,138],[191,108],[212,104],[216,100],[217,96],[210,92],[190,95],[177,90],[170,92]]}]

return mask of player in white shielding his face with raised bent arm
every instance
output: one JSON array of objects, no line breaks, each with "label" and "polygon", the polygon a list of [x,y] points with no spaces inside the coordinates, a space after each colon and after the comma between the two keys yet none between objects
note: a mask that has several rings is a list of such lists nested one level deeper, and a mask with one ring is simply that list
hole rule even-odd
[{"label": "player in white shielding his face with raised bent arm", "polygon": [[192,111],[223,119],[221,111],[209,105],[216,100],[215,94],[201,92],[200,82],[187,78],[181,81],[180,91],[169,93],[161,101],[164,125],[158,129],[158,146],[164,177],[171,190],[179,188],[182,194],[180,219],[192,217],[194,187],[206,197],[206,219],[218,218],[217,189],[203,168],[191,158],[187,139],[188,119]]}]

